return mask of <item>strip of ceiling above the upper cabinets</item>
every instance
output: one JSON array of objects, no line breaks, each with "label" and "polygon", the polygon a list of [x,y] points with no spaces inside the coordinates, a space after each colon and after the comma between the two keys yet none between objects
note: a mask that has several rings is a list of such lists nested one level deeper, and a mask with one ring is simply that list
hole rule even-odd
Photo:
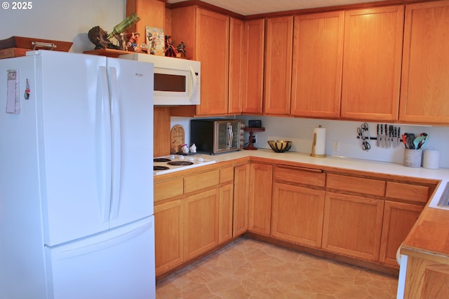
[{"label": "strip of ceiling above the upper cabinets", "polygon": [[[167,0],[174,4],[187,0]],[[384,0],[201,0],[208,4],[225,8],[239,15],[258,15],[277,11],[296,11],[305,8],[340,6]]]}]

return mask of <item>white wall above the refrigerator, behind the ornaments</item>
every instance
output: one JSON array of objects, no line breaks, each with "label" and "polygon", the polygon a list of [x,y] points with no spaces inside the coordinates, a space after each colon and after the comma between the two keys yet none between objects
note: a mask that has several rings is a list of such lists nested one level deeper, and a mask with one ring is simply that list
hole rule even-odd
[{"label": "white wall above the refrigerator, behind the ornaments", "polygon": [[[2,1],[4,2],[4,1]],[[12,4],[12,1],[6,1]],[[71,41],[70,52],[82,53],[95,46],[88,31],[100,26],[112,32],[126,18],[126,0],[36,0],[30,10],[0,8],[0,40],[11,36]]]}]

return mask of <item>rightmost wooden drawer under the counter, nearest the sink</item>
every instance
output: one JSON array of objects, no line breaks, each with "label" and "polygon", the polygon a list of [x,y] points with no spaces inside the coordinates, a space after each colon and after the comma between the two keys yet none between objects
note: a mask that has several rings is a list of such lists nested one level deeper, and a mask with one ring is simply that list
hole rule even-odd
[{"label": "rightmost wooden drawer under the counter, nearest the sink", "polygon": [[392,200],[405,200],[408,202],[426,204],[430,195],[428,186],[387,181],[387,191],[385,196]]}]

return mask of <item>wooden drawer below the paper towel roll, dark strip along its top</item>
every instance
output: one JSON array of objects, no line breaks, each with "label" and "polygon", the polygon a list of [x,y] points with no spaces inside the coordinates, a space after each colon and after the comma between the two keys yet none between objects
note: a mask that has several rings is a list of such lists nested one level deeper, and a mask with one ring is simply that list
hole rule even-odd
[{"label": "wooden drawer below the paper towel roll, dark strip along its top", "polygon": [[324,187],[326,185],[326,174],[321,170],[287,165],[279,165],[274,169],[274,179],[307,186]]}]

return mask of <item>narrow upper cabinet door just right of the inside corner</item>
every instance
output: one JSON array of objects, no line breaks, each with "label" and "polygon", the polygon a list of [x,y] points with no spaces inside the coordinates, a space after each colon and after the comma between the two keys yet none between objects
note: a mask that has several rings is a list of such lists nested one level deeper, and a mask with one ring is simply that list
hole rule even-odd
[{"label": "narrow upper cabinet door just right of the inside corner", "polygon": [[245,21],[243,39],[243,113],[262,114],[265,20]]}]

